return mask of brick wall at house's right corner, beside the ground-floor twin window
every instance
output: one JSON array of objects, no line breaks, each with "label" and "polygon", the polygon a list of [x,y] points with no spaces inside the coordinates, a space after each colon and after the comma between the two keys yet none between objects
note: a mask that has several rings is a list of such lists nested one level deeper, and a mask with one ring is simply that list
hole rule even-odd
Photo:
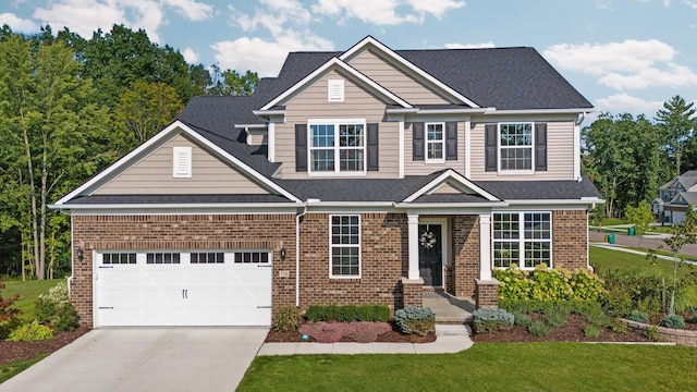
[{"label": "brick wall at house's right corner, beside the ground-floor twin window", "polygon": [[552,211],[552,264],[568,270],[588,266],[588,220],[585,210]]}]

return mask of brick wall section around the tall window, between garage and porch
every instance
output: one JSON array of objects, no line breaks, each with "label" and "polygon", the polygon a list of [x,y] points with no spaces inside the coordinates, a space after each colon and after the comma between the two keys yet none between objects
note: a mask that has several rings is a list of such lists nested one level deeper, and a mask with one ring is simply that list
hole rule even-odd
[{"label": "brick wall section around the tall window, between garage and porch", "polygon": [[386,304],[402,307],[407,275],[407,220],[400,213],[360,215],[360,279],[329,278],[329,213],[307,213],[301,223],[301,307],[316,304]]}]

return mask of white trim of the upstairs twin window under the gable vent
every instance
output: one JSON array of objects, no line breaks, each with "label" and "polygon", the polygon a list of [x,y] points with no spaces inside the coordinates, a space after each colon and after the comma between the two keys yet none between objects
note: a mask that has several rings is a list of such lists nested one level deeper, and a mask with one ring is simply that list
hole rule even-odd
[{"label": "white trim of the upstairs twin window under the gable vent", "polygon": [[[313,125],[334,125],[334,171],[313,171]],[[339,146],[339,126],[346,124],[362,124],[363,125],[363,170],[362,171],[341,171],[340,170],[340,154],[341,147]],[[368,147],[367,147],[368,127],[366,119],[308,119],[307,120],[307,174],[309,176],[365,176],[368,172]],[[328,149],[320,147],[319,149]],[[357,149],[357,148],[355,148]]]}]

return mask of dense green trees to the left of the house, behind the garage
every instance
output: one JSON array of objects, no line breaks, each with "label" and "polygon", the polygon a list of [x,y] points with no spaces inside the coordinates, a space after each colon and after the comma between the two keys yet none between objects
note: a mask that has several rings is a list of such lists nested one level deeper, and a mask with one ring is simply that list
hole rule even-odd
[{"label": "dense green trees to the left of the house, behind the garage", "polygon": [[249,95],[255,72],[188,64],[143,29],[91,38],[0,28],[0,275],[70,273],[58,198],[171,123],[197,95]]}]

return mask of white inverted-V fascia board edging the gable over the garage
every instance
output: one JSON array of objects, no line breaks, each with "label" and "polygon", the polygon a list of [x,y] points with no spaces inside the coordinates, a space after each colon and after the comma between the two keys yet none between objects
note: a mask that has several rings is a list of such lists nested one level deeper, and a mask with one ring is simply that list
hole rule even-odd
[{"label": "white inverted-V fascia board edging the gable over the garage", "polygon": [[164,130],[160,131],[160,133],[155,135],[152,138],[147,140],[146,143],[142,144],[139,147],[137,147],[136,149],[134,149],[133,151],[131,151],[130,154],[124,156],[123,158],[119,159],[115,163],[113,163],[112,166],[107,168],[105,171],[102,171],[101,173],[97,174],[96,176],[94,176],[93,179],[90,179],[89,181],[84,183],[83,185],[78,186],[73,192],[71,192],[68,195],[63,196],[60,200],[56,201],[56,206],[64,205],[65,203],[68,203],[72,198],[74,198],[75,196],[81,195],[85,191],[90,189],[93,186],[98,185],[101,180],[103,180],[105,177],[107,177],[108,175],[113,173],[114,171],[120,170],[121,167],[123,167],[124,164],[129,163],[132,159],[136,158],[142,152],[146,151],[147,149],[149,149],[150,147],[152,147],[154,145],[156,145],[157,143],[159,143],[163,138],[169,137],[172,133],[176,132],[178,128],[181,130],[186,135],[191,136],[192,138],[196,139],[201,145],[204,145],[207,148],[211,149],[212,151],[215,151],[219,156],[223,157],[223,159],[230,161],[235,167],[237,167],[241,170],[247,172],[252,177],[256,179],[257,181],[259,181],[261,184],[264,184],[268,188],[278,192],[280,195],[289,198],[290,200],[301,203],[301,200],[297,197],[295,197],[295,195],[293,195],[290,192],[285,191],[284,188],[282,188],[278,184],[273,183],[269,179],[267,179],[264,175],[261,175],[256,170],[252,169],[246,163],[242,162],[237,158],[235,158],[232,155],[228,154],[222,148],[220,148],[217,145],[212,144],[207,138],[205,138],[204,136],[201,136],[197,132],[193,131],[191,127],[188,127],[183,122],[176,120],[173,123],[171,123],[168,127],[166,127]]}]

